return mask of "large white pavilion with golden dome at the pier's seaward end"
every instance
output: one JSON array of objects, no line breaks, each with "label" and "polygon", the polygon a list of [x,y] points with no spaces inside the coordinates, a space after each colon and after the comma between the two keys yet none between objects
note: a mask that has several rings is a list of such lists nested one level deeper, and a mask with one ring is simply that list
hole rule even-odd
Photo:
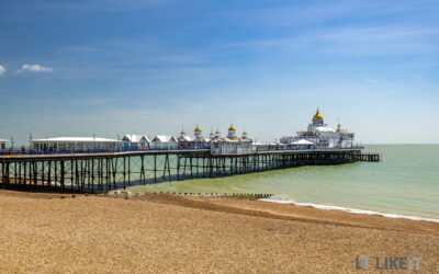
[{"label": "large white pavilion with golden dome at the pier's seaward end", "polygon": [[312,124],[307,128],[297,132],[296,136],[282,137],[281,142],[300,148],[351,148],[353,147],[353,133],[341,129],[340,124],[336,130],[328,127],[317,109]]}]

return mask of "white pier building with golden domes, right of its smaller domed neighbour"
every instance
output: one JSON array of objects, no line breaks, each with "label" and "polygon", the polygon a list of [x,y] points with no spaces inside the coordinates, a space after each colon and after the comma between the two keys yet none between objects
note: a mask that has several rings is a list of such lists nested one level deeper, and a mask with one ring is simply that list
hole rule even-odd
[{"label": "white pier building with golden domes, right of its smaller domed neighbour", "polygon": [[236,128],[230,125],[226,137],[221,137],[219,132],[210,140],[212,155],[246,155],[254,152],[252,140],[244,132],[241,137],[236,135]]}]

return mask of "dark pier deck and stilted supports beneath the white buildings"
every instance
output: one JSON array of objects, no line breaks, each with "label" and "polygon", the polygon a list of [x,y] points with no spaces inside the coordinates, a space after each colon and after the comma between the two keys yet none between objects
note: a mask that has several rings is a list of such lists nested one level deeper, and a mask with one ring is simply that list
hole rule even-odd
[{"label": "dark pier deck and stilted supports beneath the white buildings", "polygon": [[359,149],[269,150],[211,155],[206,150],[146,150],[0,156],[0,187],[109,192],[130,185],[217,178],[302,165],[380,161]]}]

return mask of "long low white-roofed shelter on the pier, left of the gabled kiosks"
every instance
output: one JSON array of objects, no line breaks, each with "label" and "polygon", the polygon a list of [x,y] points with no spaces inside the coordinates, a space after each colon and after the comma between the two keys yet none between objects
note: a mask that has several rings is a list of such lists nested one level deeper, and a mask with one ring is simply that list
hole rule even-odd
[{"label": "long low white-roofed shelter on the pier, left of the gabled kiosks", "polygon": [[31,148],[41,152],[114,151],[120,146],[120,140],[95,136],[31,139]]}]

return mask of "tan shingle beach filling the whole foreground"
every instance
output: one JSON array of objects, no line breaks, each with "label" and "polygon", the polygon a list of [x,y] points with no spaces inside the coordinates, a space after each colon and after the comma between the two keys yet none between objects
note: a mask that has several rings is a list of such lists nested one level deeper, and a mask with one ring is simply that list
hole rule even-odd
[{"label": "tan shingle beach filling the whole foreground", "polygon": [[0,272],[350,273],[417,256],[438,273],[439,224],[227,197],[0,191]]}]

